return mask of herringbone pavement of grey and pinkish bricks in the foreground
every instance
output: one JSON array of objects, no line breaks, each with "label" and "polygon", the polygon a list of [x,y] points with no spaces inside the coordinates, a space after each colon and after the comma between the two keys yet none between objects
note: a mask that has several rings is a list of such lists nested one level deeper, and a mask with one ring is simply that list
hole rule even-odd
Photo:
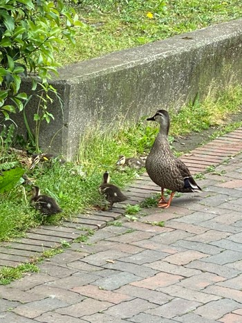
[{"label": "herringbone pavement of grey and pinkish bricks in the foreground", "polygon": [[106,225],[40,273],[0,286],[0,322],[242,322],[242,154],[198,182],[203,193],[144,209],[136,222],[104,212],[122,226]]}]

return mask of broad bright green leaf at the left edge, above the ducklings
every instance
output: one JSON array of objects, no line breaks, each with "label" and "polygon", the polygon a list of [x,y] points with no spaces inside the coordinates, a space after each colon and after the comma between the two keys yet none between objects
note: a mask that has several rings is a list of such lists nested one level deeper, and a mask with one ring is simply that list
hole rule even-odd
[{"label": "broad bright green leaf at the left edge, above the ducklings", "polygon": [[24,172],[25,170],[20,167],[3,172],[0,176],[0,193],[12,190],[12,188],[17,185]]}]

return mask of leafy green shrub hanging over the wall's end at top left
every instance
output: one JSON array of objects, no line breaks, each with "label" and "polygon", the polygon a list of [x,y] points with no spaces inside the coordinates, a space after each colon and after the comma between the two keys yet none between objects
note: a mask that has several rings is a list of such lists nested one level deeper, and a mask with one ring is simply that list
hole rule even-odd
[{"label": "leafy green shrub hanging over the wall's end at top left", "polygon": [[[83,24],[73,9],[66,9],[62,0],[2,0],[0,21],[0,112],[3,121],[10,119],[10,113],[24,110],[28,95],[21,91],[21,80],[28,76],[32,91],[36,91],[38,85],[46,94],[37,94],[41,99],[41,113],[35,115],[35,120],[50,122],[53,116],[47,109],[48,100],[51,100],[47,92],[53,88],[48,80],[53,73],[57,74],[59,66],[53,53],[59,50],[60,44],[66,44],[66,39],[75,44],[75,28]],[[26,122],[26,115],[24,120]]]}]

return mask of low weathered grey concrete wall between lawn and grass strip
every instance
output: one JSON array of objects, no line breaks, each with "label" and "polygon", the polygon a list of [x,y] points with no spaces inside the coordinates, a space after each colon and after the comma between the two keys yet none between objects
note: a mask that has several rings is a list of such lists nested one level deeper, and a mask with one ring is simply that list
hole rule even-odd
[{"label": "low weathered grey concrete wall between lawn and grass strip", "polygon": [[[41,125],[40,145],[48,149],[56,131],[68,124],[50,151],[70,160],[89,122],[100,120],[105,127],[120,116],[136,121],[174,104],[178,109],[205,94],[212,81],[223,86],[231,75],[241,82],[242,19],[65,66],[53,81],[64,111],[55,100],[50,107],[55,121]],[[32,100],[29,120],[36,107]]]}]

